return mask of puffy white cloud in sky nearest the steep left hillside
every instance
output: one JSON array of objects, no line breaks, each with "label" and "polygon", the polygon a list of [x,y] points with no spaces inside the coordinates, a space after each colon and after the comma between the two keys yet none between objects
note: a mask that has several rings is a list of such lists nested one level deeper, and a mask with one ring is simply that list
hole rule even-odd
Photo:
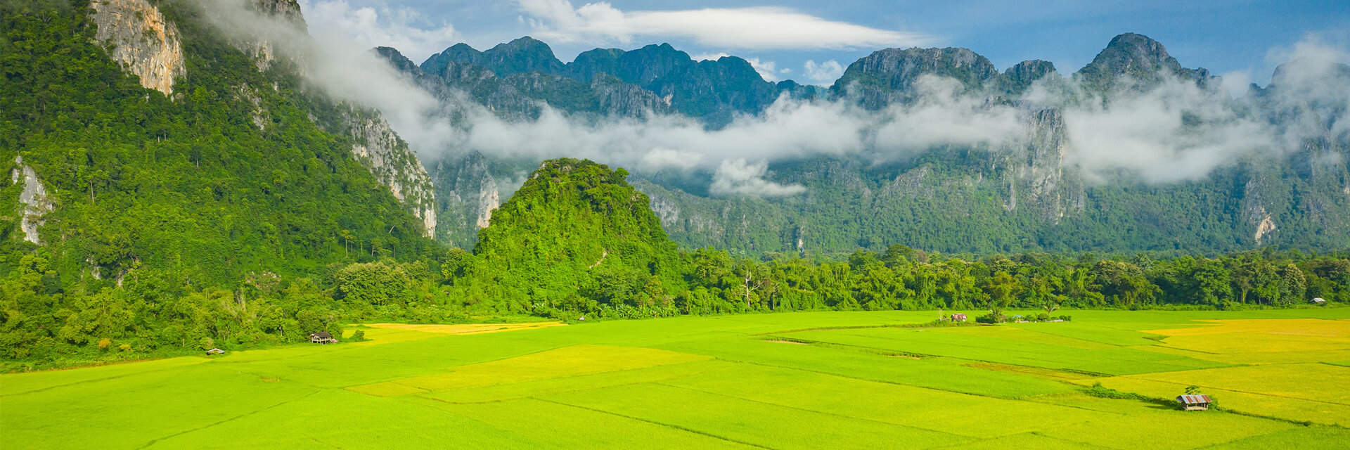
[{"label": "puffy white cloud in sky nearest the steep left hillside", "polygon": [[373,8],[352,7],[346,0],[301,0],[300,8],[310,35],[320,41],[340,36],[367,49],[394,47],[413,61],[421,61],[460,41],[450,23],[432,23],[408,7]]}]

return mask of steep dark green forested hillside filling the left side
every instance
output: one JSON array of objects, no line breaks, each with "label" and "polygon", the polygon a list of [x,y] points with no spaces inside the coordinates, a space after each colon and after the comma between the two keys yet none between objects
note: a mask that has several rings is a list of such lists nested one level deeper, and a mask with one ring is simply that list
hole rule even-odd
[{"label": "steep dark green forested hillside filling the left side", "polygon": [[[122,18],[144,20],[130,30],[146,49],[170,49],[154,54],[169,77],[112,58],[143,49],[105,41],[127,24],[100,8],[140,8]],[[5,1],[0,15],[4,358],[294,341],[333,318],[305,282],[259,297],[277,280],[437,251],[346,128],[321,126],[352,109],[284,61],[259,66],[192,4]]]}]

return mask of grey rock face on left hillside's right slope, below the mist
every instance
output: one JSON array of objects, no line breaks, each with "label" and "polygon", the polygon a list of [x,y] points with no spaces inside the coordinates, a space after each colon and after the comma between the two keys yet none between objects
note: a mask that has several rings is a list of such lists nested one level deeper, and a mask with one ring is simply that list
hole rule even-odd
[{"label": "grey rock face on left hillside's right slope, below the mist", "polygon": [[427,236],[436,234],[435,186],[427,169],[417,155],[408,150],[408,143],[389,128],[389,123],[378,112],[362,112],[355,108],[344,116],[348,132],[355,141],[351,151],[370,169],[381,184],[389,186],[394,197],[417,218],[423,219]]}]

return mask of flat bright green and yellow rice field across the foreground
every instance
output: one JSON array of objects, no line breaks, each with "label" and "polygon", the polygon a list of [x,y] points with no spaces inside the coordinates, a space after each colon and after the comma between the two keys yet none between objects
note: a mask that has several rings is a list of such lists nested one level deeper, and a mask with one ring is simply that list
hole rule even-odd
[{"label": "flat bright green and yellow rice field across the foreground", "polygon": [[[1350,446],[1350,308],[1065,314],[369,327],[366,342],[3,374],[0,447]],[[1188,385],[1218,409],[1158,400]]]}]

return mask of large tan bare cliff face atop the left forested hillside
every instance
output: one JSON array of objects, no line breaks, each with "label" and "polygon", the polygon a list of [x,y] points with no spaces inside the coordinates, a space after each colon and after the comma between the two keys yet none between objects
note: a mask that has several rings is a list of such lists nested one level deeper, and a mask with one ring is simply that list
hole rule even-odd
[{"label": "large tan bare cliff face atop the left forested hillside", "polygon": [[173,93],[174,78],[188,74],[178,28],[146,0],[93,0],[94,39],[113,61],[140,78],[140,85]]}]

